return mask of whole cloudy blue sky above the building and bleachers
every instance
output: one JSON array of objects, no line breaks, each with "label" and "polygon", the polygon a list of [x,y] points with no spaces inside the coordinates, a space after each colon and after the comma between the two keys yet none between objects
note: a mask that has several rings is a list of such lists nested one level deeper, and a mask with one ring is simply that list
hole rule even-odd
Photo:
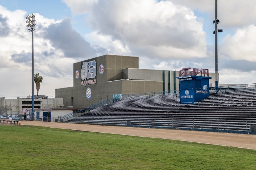
[{"label": "whole cloudy blue sky above the building and bleachers", "polygon": [[[256,1],[218,1],[219,83],[256,83]],[[73,63],[105,54],[138,56],[139,68],[215,72],[215,0],[0,0],[0,97],[73,86]],[[36,86],[34,85],[34,95]]]}]

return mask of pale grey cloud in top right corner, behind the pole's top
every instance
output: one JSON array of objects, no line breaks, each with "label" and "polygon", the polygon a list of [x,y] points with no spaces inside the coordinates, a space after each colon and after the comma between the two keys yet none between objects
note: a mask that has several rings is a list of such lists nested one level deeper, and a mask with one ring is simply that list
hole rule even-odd
[{"label": "pale grey cloud in top right corner, behind the pole's top", "polygon": [[[187,6],[192,10],[208,14],[215,19],[215,0],[169,0],[175,4]],[[217,3],[218,19],[223,28],[242,27],[256,23],[255,0],[221,0]]]}]

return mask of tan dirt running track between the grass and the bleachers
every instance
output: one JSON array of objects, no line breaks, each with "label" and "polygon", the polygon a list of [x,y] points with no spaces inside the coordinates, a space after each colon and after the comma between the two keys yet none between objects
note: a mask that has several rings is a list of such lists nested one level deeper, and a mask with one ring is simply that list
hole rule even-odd
[{"label": "tan dirt running track between the grass and the bleachers", "polygon": [[112,133],[122,135],[132,135],[140,137],[173,139],[180,141],[216,144],[222,146],[232,146],[239,148],[248,148],[256,150],[256,135],[202,132],[190,130],[172,130],[172,129],[150,129],[150,128],[131,128],[114,127],[73,123],[54,123],[43,121],[21,121],[22,125],[35,125],[51,128],[83,130],[88,132]]}]

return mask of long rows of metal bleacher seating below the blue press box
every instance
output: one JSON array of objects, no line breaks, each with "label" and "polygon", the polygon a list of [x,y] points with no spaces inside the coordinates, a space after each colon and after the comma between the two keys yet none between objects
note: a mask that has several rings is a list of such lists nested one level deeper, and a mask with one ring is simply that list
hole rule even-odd
[{"label": "long rows of metal bleacher seating below the blue press box", "polygon": [[225,89],[195,104],[180,104],[180,95],[123,97],[72,117],[68,123],[127,125],[247,132],[256,125],[256,88]]}]

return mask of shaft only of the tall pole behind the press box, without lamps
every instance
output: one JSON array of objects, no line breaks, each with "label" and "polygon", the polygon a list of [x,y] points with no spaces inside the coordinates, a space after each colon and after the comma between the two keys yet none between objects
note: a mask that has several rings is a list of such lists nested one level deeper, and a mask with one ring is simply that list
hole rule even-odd
[{"label": "shaft only of the tall pole behind the press box, without lamps", "polygon": [[217,0],[215,0],[215,91],[218,92],[218,28],[217,28]]}]

